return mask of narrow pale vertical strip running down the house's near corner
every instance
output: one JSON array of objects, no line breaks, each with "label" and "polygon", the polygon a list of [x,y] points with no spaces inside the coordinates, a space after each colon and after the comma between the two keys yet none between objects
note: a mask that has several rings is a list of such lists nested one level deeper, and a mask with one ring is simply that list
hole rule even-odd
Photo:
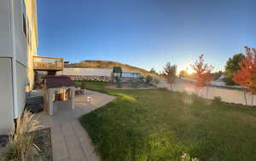
[{"label": "narrow pale vertical strip running down the house's near corner", "polygon": [[18,118],[18,96],[17,96],[17,71],[16,71],[16,49],[15,49],[15,0],[10,2],[10,34],[11,34],[11,52],[12,52],[12,75],[13,75],[13,97],[14,97],[14,118]]}]

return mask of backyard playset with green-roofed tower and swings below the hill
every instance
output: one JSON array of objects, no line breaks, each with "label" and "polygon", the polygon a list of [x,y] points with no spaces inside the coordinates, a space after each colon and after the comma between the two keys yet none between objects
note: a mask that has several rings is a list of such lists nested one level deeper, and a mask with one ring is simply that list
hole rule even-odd
[{"label": "backyard playset with green-roofed tower and swings below the hill", "polygon": [[120,66],[113,66],[111,80],[112,83],[117,84],[118,88],[122,87],[122,83],[131,83],[131,87],[136,88],[137,83],[145,82],[145,78],[140,72],[123,72]]}]

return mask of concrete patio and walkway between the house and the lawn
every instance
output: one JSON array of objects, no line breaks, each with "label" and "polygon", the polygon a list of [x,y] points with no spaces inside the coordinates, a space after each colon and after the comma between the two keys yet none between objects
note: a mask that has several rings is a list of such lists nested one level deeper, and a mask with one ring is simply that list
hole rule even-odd
[{"label": "concrete patio and walkway between the house and the lawn", "polygon": [[[92,97],[87,102],[87,96]],[[115,97],[87,90],[86,95],[75,97],[73,110],[59,109],[54,116],[39,113],[39,122],[44,128],[51,128],[51,141],[54,161],[100,161],[90,136],[79,123],[78,118],[99,108]]]}]

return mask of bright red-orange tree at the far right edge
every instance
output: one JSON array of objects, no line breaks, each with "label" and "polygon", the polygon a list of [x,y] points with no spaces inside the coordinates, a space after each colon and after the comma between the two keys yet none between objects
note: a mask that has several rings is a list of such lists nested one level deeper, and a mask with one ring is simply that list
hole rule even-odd
[{"label": "bright red-orange tree at the far right edge", "polygon": [[[249,90],[249,92],[252,94],[253,106],[253,95],[256,94],[256,49],[250,49],[247,46],[245,49],[246,56],[239,63],[240,69],[233,73],[233,81]],[[245,100],[247,104],[246,95]]]}]

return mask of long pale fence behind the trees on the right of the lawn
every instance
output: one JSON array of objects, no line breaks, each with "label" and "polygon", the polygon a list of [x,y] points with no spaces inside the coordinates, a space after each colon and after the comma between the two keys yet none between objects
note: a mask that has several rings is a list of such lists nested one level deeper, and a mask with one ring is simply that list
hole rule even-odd
[{"label": "long pale fence behind the trees on the right of the lawn", "polygon": [[[166,88],[172,91],[177,92],[187,92],[188,94],[196,94],[203,98],[214,99],[214,97],[221,97],[221,100],[229,103],[236,103],[246,105],[246,99],[244,92],[238,89],[224,89],[218,87],[207,86],[201,89],[198,93],[195,90],[195,85],[193,83],[173,83],[172,89],[169,83],[166,83],[165,80],[160,80],[160,83],[155,84],[158,88]],[[246,94],[247,105],[252,103],[252,95],[249,93]],[[256,96],[253,95],[253,98]],[[253,106],[256,106],[256,101],[253,101]]]}]

